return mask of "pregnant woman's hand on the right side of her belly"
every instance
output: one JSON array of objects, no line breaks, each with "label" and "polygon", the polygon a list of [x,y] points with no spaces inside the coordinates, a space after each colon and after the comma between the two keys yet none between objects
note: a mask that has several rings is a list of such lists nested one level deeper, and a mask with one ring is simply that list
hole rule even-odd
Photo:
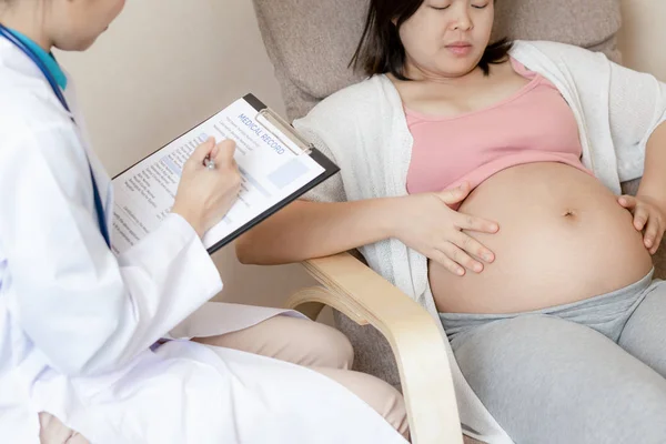
[{"label": "pregnant woman's hand on the right side of her belly", "polygon": [[646,195],[620,195],[617,201],[634,215],[634,228],[644,232],[643,243],[650,254],[655,254],[662,243],[666,221],[658,202]]}]

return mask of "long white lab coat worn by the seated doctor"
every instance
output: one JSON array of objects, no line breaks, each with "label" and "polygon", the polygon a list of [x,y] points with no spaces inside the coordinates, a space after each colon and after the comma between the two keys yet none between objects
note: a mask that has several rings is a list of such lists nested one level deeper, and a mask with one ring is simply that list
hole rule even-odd
[{"label": "long white lab coat worn by the seated doctor", "polygon": [[79,128],[0,38],[0,442],[38,443],[43,411],[93,444],[404,443],[307,369],[185,340],[150,350],[168,332],[221,334],[280,311],[206,304],[182,323],[222,282],[178,215],[109,251],[87,157],[109,225],[111,184],[72,94]]}]

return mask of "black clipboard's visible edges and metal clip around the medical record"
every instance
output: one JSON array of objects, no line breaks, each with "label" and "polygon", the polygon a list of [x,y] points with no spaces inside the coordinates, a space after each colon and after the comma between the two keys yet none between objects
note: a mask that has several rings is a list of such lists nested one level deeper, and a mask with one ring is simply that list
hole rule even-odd
[{"label": "black clipboard's visible edges and metal clip around the medical record", "polygon": [[[260,222],[262,222],[265,219],[270,218],[271,215],[275,214],[278,211],[280,211],[284,206],[289,205],[290,203],[292,203],[293,201],[297,200],[299,198],[301,198],[303,194],[305,194],[306,192],[309,192],[313,188],[317,186],[322,182],[326,181],[327,179],[330,179],[331,176],[333,176],[337,172],[340,172],[340,168],[335,163],[333,163],[333,161],[331,159],[329,159],[325,154],[323,154],[321,151],[319,151],[312,143],[307,142],[303,137],[301,137],[296,132],[296,130],[290,123],[285,122],[278,113],[275,113],[269,107],[266,107],[254,94],[248,93],[248,94],[243,95],[242,99],[245,102],[248,102],[252,108],[254,108],[254,110],[256,110],[258,117],[261,117],[263,120],[270,122],[272,127],[276,128],[278,132],[273,131],[272,129],[270,129],[265,124],[262,124],[259,119],[255,119],[255,121],[259,124],[262,124],[264,127],[264,129],[266,129],[268,131],[270,131],[273,137],[275,137],[276,139],[279,139],[285,147],[287,147],[289,149],[291,149],[290,144],[289,143],[284,143],[284,141],[283,141],[284,138],[289,138],[289,140],[293,144],[295,144],[296,147],[299,147],[300,150],[301,150],[300,152],[296,153],[296,155],[309,155],[312,160],[314,160],[316,163],[319,163],[324,169],[324,171],[320,175],[317,175],[314,180],[307,182],[307,184],[305,184],[301,189],[299,189],[295,192],[291,193],[289,196],[284,198],[283,200],[281,200],[280,202],[278,202],[273,206],[271,206],[268,210],[265,210],[264,212],[260,213],[259,215],[256,215],[252,220],[245,222],[243,225],[241,225],[239,229],[236,229],[235,231],[233,231],[230,234],[228,234],[225,238],[223,238],[220,241],[215,242],[212,246],[210,246],[208,249],[209,254],[213,254],[218,250],[220,250],[223,246],[228,245],[229,243],[231,243],[232,241],[234,241],[236,238],[239,238],[244,232],[246,232],[250,229],[254,228]],[[161,151],[163,148],[165,148],[169,144],[173,143],[175,140],[180,139],[184,134],[186,134],[190,131],[194,130],[196,127],[199,127],[199,125],[208,122],[210,119],[212,119],[213,117],[215,117],[218,113],[220,113],[220,111],[218,111],[214,114],[210,115],[208,119],[203,120],[202,122],[200,122],[199,124],[192,127],[191,129],[184,131],[182,134],[180,134],[179,137],[174,138],[169,143],[167,143],[165,145],[161,147],[160,149],[153,151],[152,153],[150,153],[145,158],[141,159],[140,161],[138,161],[133,165],[124,169],[122,172],[120,172],[117,175],[114,175],[113,179],[115,179],[115,178],[124,174],[125,172],[128,172],[129,170],[131,170],[132,168],[134,168],[135,165],[138,165],[139,163],[143,162],[145,159],[150,158],[151,155],[153,155],[157,152]],[[291,150],[293,151],[293,149],[291,149]]]}]

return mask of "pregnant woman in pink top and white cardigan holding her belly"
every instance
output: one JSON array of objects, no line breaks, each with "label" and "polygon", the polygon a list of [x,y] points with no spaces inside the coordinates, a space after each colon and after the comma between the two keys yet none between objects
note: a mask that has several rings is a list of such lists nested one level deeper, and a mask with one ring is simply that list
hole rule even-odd
[{"label": "pregnant woman in pink top and white cardigan holding her belly", "polygon": [[294,122],[342,173],[239,258],[359,248],[441,320],[472,436],[666,442],[666,87],[581,48],[490,43],[493,0],[370,3],[369,79]]}]

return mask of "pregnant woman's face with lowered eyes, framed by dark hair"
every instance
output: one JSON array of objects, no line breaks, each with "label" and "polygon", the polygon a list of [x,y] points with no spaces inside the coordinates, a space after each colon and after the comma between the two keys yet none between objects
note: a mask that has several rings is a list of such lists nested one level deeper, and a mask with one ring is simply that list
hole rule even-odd
[{"label": "pregnant woman's face with lowered eyes, framed by dark hair", "polygon": [[470,73],[488,46],[494,16],[494,0],[424,0],[400,29],[407,77]]}]

